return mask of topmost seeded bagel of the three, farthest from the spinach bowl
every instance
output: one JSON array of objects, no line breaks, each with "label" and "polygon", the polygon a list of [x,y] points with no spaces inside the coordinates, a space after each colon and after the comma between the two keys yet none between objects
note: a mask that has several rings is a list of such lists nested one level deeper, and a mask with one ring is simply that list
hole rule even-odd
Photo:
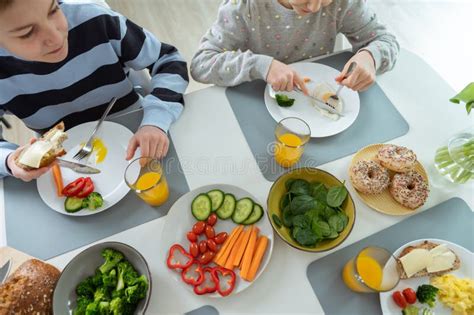
[{"label": "topmost seeded bagel of the three, farthest from the spinach bowl", "polygon": [[389,144],[379,150],[375,159],[389,170],[404,173],[415,166],[416,154],[408,148]]}]

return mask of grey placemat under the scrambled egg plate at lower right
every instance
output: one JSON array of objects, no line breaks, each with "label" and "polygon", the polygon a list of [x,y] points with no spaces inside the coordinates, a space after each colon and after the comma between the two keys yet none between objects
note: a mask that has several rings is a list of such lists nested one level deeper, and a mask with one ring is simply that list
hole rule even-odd
[{"label": "grey placemat under the scrambled egg plate at lower right", "polygon": [[443,239],[473,251],[474,213],[464,200],[453,198],[311,263],[306,274],[324,312],[380,314],[379,295],[349,290],[341,278],[342,268],[366,246],[380,246],[393,252],[403,244],[423,238]]}]

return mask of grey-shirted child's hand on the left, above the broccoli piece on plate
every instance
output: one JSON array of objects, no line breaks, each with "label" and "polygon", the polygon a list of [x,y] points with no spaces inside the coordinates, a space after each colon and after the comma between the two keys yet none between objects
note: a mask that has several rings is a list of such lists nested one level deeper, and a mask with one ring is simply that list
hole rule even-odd
[{"label": "grey-shirted child's hand on the left, above the broccoli piece on plate", "polygon": [[296,71],[275,59],[273,59],[270,70],[268,70],[267,83],[270,84],[276,92],[291,92],[298,86],[306,95],[308,94],[308,89],[303,79],[301,79]]}]

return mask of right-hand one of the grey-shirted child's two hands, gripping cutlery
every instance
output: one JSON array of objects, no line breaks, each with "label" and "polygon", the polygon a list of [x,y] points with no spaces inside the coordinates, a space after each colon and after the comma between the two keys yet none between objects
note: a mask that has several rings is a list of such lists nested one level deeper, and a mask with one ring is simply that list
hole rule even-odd
[{"label": "right-hand one of the grey-shirted child's two hands, gripping cutlery", "polygon": [[[343,79],[352,62],[357,66],[352,73]],[[355,54],[344,66],[344,69],[336,77],[336,81],[354,91],[365,91],[375,82],[375,61],[372,54],[367,50],[361,50]]]}]

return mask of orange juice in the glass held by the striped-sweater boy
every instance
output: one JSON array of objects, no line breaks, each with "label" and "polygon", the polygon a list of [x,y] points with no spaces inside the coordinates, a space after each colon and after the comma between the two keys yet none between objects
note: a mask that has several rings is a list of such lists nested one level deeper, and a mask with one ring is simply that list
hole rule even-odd
[{"label": "orange juice in the glass held by the striped-sweater boy", "polygon": [[148,172],[141,175],[135,183],[135,189],[140,190],[138,196],[151,206],[162,205],[168,200],[168,183],[159,173]]}]

